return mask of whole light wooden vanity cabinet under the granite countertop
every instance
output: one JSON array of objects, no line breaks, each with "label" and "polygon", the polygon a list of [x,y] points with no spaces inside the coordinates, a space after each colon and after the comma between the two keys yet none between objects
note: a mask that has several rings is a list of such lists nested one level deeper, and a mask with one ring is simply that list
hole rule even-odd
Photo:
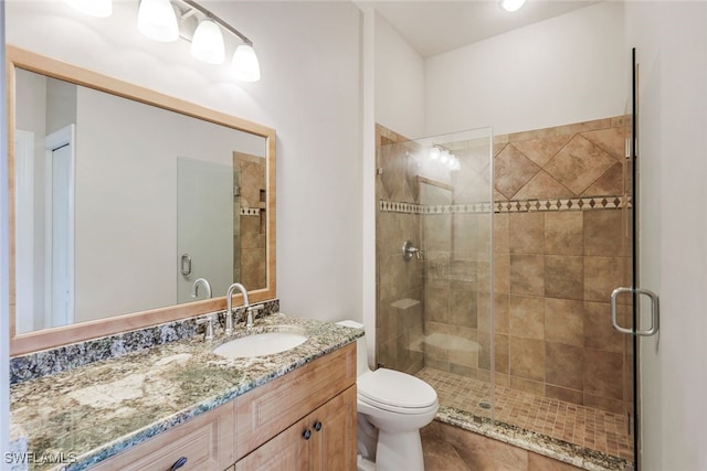
[{"label": "whole light wooden vanity cabinet under the granite countertop", "polygon": [[356,470],[356,343],[92,468],[170,469]]}]

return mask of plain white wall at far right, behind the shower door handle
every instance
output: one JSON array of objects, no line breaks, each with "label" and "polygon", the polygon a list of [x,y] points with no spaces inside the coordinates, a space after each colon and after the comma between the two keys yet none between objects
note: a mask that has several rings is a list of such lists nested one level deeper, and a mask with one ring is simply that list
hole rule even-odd
[{"label": "plain white wall at far right, behind the shower door handle", "polygon": [[707,3],[629,2],[640,63],[641,285],[661,333],[641,342],[642,469],[707,469]]}]

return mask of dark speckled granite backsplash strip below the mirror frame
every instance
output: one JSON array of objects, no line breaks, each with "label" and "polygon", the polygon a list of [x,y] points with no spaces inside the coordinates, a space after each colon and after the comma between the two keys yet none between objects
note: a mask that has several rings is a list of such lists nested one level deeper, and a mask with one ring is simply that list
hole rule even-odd
[{"label": "dark speckled granite backsplash strip below the mirror frame", "polygon": [[[279,311],[278,299],[258,304],[263,306],[258,317]],[[10,384],[189,339],[201,332],[202,327],[197,325],[196,322],[199,317],[201,315],[12,357],[10,358]]]}]

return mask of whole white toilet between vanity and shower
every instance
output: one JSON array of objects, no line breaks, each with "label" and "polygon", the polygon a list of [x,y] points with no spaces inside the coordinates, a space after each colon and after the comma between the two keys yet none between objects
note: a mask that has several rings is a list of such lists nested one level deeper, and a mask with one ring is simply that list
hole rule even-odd
[{"label": "whole white toilet between vanity and shower", "polygon": [[[337,323],[363,329],[356,321]],[[356,347],[359,470],[423,471],[420,429],[434,419],[437,394],[409,374],[387,368],[371,371],[365,336],[358,339]]]}]

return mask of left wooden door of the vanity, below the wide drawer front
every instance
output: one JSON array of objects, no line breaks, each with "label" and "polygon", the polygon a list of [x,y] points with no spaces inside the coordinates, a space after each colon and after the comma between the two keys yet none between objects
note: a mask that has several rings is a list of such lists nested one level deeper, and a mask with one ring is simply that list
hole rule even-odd
[{"label": "left wooden door of the vanity, below the wide drawer front", "polygon": [[307,471],[312,441],[304,437],[307,424],[304,418],[253,450],[235,463],[235,471]]}]

